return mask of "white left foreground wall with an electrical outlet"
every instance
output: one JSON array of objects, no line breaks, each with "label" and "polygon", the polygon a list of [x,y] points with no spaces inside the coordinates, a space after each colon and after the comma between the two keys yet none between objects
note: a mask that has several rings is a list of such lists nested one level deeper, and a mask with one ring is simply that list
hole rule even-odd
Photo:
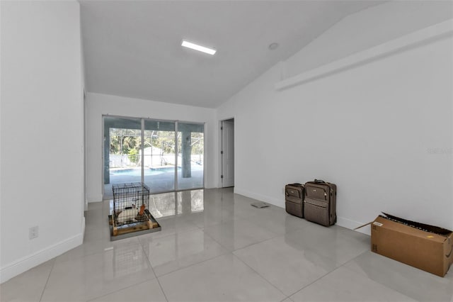
[{"label": "white left foreground wall with an electrical outlet", "polygon": [[1,282],[83,241],[80,43],[78,2],[1,1]]}]

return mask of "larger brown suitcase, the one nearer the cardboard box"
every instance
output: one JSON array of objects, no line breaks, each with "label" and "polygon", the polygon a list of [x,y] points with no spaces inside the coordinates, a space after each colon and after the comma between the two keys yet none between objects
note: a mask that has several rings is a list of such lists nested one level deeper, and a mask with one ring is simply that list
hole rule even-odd
[{"label": "larger brown suitcase, the one nearer the cardboard box", "polygon": [[305,183],[304,218],[320,225],[334,225],[336,214],[337,186],[315,179]]}]

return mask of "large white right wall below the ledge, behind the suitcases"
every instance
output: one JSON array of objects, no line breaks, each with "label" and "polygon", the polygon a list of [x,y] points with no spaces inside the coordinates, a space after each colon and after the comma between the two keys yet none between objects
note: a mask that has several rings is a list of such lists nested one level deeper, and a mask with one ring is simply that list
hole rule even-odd
[{"label": "large white right wall below the ledge, behind the suitcases", "polygon": [[235,118],[235,192],[283,207],[286,183],[325,179],[338,185],[339,225],[384,211],[452,229],[452,45],[449,35],[282,91],[287,62],[268,70],[217,113]]}]

